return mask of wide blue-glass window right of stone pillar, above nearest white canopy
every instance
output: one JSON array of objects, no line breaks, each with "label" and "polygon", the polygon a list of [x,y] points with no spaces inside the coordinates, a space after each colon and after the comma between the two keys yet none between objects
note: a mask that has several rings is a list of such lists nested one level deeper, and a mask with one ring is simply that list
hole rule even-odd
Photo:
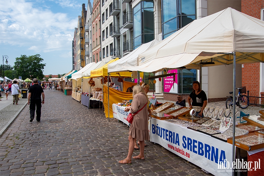
[{"label": "wide blue-glass window right of stone pillar, above nearest white canopy", "polygon": [[161,3],[163,39],[196,19],[195,0],[162,0]]}]

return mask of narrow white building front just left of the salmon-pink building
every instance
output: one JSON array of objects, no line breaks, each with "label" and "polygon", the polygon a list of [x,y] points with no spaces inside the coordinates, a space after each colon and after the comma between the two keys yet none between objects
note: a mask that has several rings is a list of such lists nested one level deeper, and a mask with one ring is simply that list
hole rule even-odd
[{"label": "narrow white building front just left of the salmon-pink building", "polygon": [[92,62],[92,4],[88,0],[87,4],[87,15],[85,21],[85,63],[86,65]]}]

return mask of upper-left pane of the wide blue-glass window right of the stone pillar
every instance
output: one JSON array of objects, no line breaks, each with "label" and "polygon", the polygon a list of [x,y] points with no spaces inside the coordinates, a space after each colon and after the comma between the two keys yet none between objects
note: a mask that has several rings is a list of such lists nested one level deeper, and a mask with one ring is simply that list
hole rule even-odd
[{"label": "upper-left pane of the wide blue-glass window right of the stone pillar", "polygon": [[176,1],[165,1],[163,0],[163,23],[177,16],[175,10],[177,9]]}]

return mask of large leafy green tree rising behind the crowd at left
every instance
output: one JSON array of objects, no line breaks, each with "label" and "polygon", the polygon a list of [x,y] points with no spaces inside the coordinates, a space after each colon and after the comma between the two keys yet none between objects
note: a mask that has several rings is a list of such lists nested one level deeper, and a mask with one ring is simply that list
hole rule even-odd
[{"label": "large leafy green tree rising behind the crowd at left", "polygon": [[22,77],[22,79],[26,78],[37,78],[38,80],[42,80],[43,69],[46,64],[43,62],[43,58],[40,57],[39,54],[33,56],[21,55],[21,57],[16,57],[16,62],[14,69],[16,70],[16,75]]}]

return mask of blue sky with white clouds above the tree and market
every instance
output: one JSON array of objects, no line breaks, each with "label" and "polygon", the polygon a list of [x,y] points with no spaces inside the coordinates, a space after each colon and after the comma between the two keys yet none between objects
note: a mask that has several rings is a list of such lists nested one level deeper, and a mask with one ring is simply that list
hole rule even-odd
[{"label": "blue sky with white clouds above the tree and market", "polygon": [[1,57],[8,55],[13,66],[16,57],[40,54],[46,64],[44,75],[71,71],[72,40],[82,4],[87,9],[88,0],[1,0]]}]

